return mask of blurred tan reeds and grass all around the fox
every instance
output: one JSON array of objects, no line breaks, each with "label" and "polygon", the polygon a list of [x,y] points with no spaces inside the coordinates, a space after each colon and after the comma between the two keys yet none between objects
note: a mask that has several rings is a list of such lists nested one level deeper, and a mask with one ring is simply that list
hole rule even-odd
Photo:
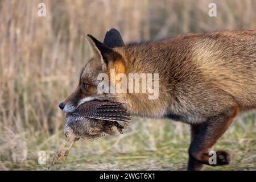
[{"label": "blurred tan reeds and grass all around the fox", "polygon": [[[211,2],[217,17],[208,15]],[[0,169],[47,169],[64,140],[58,104],[88,61],[86,34],[103,40],[113,27],[125,42],[256,28],[256,1],[0,1]],[[232,164],[206,169],[255,170],[255,127],[254,113],[240,115],[213,148],[230,151]],[[66,168],[53,169],[183,170],[189,138],[185,124],[133,118],[123,135],[77,142]]]}]

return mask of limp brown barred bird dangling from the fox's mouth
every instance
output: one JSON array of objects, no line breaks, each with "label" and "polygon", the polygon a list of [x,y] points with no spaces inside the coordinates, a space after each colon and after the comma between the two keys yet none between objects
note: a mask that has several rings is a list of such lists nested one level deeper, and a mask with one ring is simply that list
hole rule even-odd
[{"label": "limp brown barred bird dangling from the fox's mouth", "polygon": [[[73,144],[82,139],[95,140],[105,135],[114,135],[116,130],[123,133],[124,126],[131,121],[131,115],[125,104],[112,101],[89,101],[80,105],[73,113],[67,113],[64,127],[65,141],[57,150],[49,167],[61,159],[67,161],[69,151]],[[122,122],[124,126],[118,122]],[[68,150],[64,147],[72,139]],[[48,168],[49,168],[48,167]]]}]

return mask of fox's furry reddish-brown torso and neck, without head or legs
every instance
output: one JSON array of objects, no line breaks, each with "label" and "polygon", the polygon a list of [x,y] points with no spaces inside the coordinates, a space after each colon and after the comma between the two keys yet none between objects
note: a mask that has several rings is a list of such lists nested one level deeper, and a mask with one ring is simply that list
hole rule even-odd
[{"label": "fox's furry reddish-brown torso and neck, without head or legs", "polygon": [[119,94],[143,117],[206,121],[227,107],[256,107],[256,30],[185,34],[114,48],[126,73],[159,73],[159,99]]}]

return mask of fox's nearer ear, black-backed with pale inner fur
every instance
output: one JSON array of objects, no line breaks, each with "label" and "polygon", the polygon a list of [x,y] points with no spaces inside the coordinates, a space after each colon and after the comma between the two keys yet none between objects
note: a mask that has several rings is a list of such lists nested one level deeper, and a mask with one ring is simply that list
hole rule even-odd
[{"label": "fox's nearer ear, black-backed with pale inner fur", "polygon": [[94,59],[101,61],[102,69],[108,69],[110,61],[121,59],[121,55],[119,55],[119,53],[113,51],[112,48],[105,46],[92,35],[88,34],[86,38],[92,48]]}]

